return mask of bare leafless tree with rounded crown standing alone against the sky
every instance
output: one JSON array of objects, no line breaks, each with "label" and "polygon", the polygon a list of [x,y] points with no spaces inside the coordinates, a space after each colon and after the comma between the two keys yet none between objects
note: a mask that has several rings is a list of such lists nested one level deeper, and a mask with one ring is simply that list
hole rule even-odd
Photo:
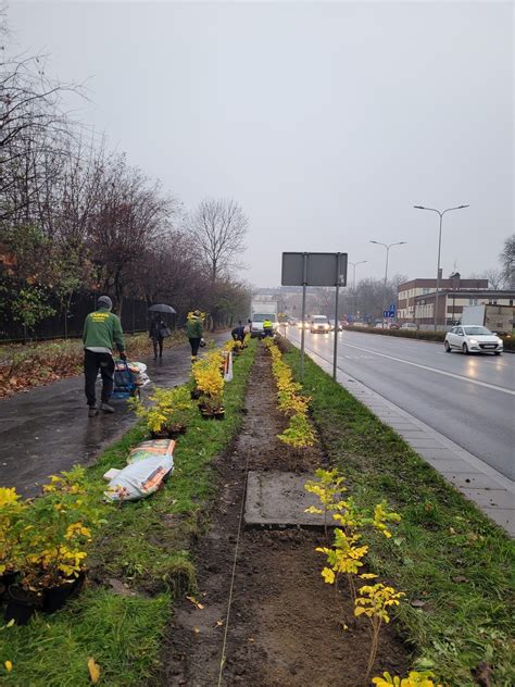
[{"label": "bare leafless tree with rounded crown standing alone against the sky", "polygon": [[244,251],[249,220],[234,200],[205,199],[189,216],[188,230],[209,265],[211,282],[228,276]]}]

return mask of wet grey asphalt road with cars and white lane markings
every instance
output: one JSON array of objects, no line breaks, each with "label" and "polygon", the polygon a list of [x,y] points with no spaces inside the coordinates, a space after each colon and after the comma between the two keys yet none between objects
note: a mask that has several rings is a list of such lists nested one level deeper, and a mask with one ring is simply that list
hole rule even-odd
[{"label": "wet grey asphalt road with cars and white lane markings", "polygon": [[[300,332],[288,337],[300,342]],[[338,334],[338,367],[515,478],[515,355],[445,353],[441,344]],[[332,361],[334,334],[305,334],[306,352]]]}]

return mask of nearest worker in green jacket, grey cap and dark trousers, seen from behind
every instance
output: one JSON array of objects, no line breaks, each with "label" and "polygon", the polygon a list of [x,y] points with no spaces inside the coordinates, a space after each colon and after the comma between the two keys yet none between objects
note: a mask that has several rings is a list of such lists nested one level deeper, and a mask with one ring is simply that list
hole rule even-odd
[{"label": "nearest worker in green jacket, grey cap and dark trousers, seen from behind", "polygon": [[98,413],[95,385],[99,370],[102,377],[100,410],[114,413],[114,408],[108,402],[114,385],[114,347],[123,360],[127,359],[122,324],[120,318],[111,312],[112,307],[110,297],[101,296],[97,302],[97,310],[90,312],[84,323],[84,376],[89,417]]}]

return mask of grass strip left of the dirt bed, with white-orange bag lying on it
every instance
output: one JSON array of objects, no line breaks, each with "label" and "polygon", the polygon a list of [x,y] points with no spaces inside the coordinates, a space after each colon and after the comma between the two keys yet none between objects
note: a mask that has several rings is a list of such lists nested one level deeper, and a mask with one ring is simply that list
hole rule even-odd
[{"label": "grass strip left of the dirt bed, with white-orange bag lying on it", "polygon": [[[88,657],[101,669],[101,684],[141,685],[159,670],[161,640],[176,595],[194,591],[192,538],[205,524],[214,494],[213,458],[226,448],[241,425],[247,378],[255,341],[235,360],[235,378],[226,385],[224,422],[204,421],[191,411],[180,437],[175,470],[166,487],[147,500],[104,507],[108,524],[88,559],[90,583],[79,597],[53,614],[36,616],[27,627],[0,627],[0,684],[18,687],[86,687]],[[129,448],[145,436],[130,429],[88,470],[91,491],[99,497],[109,467],[125,465]],[[115,596],[108,578],[125,583],[136,595]],[[4,661],[13,669],[7,673]]]}]

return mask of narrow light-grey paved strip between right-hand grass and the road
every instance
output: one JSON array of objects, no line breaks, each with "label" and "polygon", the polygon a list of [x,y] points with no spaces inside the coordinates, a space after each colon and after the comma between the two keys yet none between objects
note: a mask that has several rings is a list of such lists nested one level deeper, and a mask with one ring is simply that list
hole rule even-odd
[{"label": "narrow light-grey paved strip between right-hand grass and the road", "polygon": [[[332,374],[331,363],[313,352],[310,357]],[[515,483],[340,369],[337,380],[468,500],[515,537]]]}]

